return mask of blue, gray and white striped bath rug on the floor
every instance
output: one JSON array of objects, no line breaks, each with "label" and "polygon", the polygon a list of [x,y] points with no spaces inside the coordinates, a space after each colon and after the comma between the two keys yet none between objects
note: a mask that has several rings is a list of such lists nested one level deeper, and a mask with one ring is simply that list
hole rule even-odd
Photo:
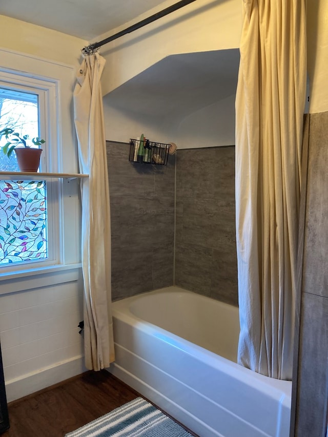
[{"label": "blue, gray and white striped bath rug on the floor", "polygon": [[65,437],[192,437],[142,398],[122,405]]}]

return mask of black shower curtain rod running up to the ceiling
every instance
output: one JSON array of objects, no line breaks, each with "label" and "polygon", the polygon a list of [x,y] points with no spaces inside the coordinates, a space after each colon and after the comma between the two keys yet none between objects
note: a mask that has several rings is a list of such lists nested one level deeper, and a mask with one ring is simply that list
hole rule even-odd
[{"label": "black shower curtain rod running up to the ceiling", "polygon": [[121,30],[120,32],[115,33],[114,35],[109,36],[108,38],[105,38],[102,41],[99,41],[99,43],[89,44],[89,46],[86,46],[82,49],[82,53],[85,55],[90,55],[90,54],[94,53],[98,47],[104,46],[104,44],[110,43],[114,39],[117,39],[120,36],[126,35],[127,33],[134,32],[135,30],[140,29],[141,27],[144,27],[149,23],[153,23],[158,18],[161,18],[165,15],[168,15],[171,12],[174,12],[174,11],[182,8],[183,6],[189,5],[190,3],[193,3],[195,1],[196,0],[181,0],[180,2],[175,3],[174,5],[169,6],[168,8],[163,9],[162,11],[159,11],[156,14],[151,15],[148,18],[145,18],[145,19],[139,21],[136,24],[133,24],[132,26],[130,26],[124,30]]}]

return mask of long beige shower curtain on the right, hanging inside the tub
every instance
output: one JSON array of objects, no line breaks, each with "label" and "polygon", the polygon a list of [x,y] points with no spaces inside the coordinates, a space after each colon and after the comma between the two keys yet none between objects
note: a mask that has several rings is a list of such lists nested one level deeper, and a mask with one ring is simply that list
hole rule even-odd
[{"label": "long beige shower curtain on the right, hanging inside the tub", "polygon": [[238,362],[291,380],[305,0],[244,0],[236,96]]}]

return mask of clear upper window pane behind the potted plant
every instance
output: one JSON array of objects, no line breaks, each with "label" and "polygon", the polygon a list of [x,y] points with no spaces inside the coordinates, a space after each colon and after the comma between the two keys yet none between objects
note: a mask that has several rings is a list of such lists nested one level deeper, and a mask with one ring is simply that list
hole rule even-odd
[{"label": "clear upper window pane behind the potted plant", "polygon": [[[13,129],[20,136],[39,136],[37,94],[0,88],[0,131],[5,128]],[[6,142],[6,137],[1,136],[0,146]],[[29,140],[27,142],[31,147],[37,147]],[[15,153],[10,158],[0,153],[0,169],[4,172],[19,171]]]}]

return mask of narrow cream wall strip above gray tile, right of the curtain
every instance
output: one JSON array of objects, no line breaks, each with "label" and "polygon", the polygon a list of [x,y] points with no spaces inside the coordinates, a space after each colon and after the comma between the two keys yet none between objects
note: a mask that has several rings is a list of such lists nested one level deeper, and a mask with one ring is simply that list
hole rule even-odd
[{"label": "narrow cream wall strip above gray tile, right of the curtain", "polygon": [[308,1],[310,113],[328,111],[328,2]]}]

